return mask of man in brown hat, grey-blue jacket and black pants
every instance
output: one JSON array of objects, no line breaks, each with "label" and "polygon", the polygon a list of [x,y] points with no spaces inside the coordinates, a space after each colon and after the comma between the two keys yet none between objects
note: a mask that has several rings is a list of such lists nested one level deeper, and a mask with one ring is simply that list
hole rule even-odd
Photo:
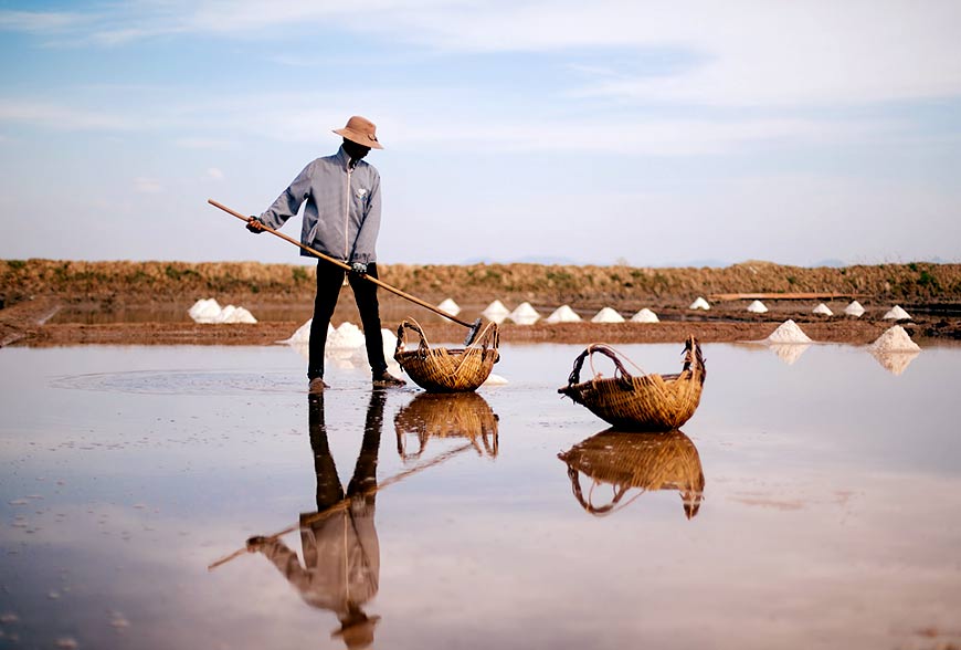
[{"label": "man in brown hat, grey-blue jacket and black pants", "polygon": [[[403,386],[403,379],[387,371],[377,285],[362,277],[377,277],[374,247],[380,230],[380,174],[363,157],[370,149],[383,147],[377,140],[377,127],[365,117],[355,115],[347,126],[334,133],[344,138],[340,150],[308,164],[265,212],[247,220],[247,230],[261,233],[264,226],[276,230],[307,201],[300,242],[350,265],[347,279],[360,312],[374,387]],[[304,250],[300,254],[313,256]],[[307,363],[310,392],[327,388],[324,382],[327,326],[337,306],[344,274],[341,268],[317,260],[317,294]]]}]

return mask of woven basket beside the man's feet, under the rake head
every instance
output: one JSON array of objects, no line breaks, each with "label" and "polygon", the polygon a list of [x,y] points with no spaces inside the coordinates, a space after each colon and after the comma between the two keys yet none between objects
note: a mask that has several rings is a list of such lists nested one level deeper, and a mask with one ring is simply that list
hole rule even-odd
[{"label": "woven basket beside the man's feet, under the rake head", "polygon": [[[404,349],[408,332],[420,337],[416,349]],[[393,358],[427,392],[466,392],[477,390],[490,376],[500,358],[499,342],[497,324],[488,323],[465,348],[431,347],[416,321],[408,318],[398,327]]]}]

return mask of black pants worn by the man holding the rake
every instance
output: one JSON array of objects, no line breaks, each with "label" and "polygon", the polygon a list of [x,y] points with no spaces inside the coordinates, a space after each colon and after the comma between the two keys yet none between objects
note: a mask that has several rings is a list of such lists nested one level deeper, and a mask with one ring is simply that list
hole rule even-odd
[{"label": "black pants worn by the man holding the rake", "polygon": [[[314,298],[314,322],[310,324],[310,359],[307,363],[307,378],[324,376],[324,349],[327,347],[327,325],[337,306],[337,296],[344,285],[344,269],[324,260],[317,262],[317,295]],[[377,264],[367,265],[367,274],[377,277]],[[347,273],[347,281],[353,290],[363,340],[367,345],[367,360],[370,370],[378,375],[387,370],[383,356],[383,337],[380,334],[380,305],[377,302],[377,285],[353,273]]]}]

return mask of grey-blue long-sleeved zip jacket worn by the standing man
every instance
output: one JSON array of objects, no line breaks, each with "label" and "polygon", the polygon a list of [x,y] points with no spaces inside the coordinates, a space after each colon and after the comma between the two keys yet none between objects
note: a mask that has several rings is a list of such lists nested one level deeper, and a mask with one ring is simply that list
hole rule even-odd
[{"label": "grey-blue long-sleeved zip jacket worn by the standing man", "polygon": [[[340,148],[334,156],[308,164],[260,220],[278,229],[297,213],[304,201],[300,242],[345,262],[377,261],[380,231],[380,174]],[[314,256],[302,250],[302,255]]]}]

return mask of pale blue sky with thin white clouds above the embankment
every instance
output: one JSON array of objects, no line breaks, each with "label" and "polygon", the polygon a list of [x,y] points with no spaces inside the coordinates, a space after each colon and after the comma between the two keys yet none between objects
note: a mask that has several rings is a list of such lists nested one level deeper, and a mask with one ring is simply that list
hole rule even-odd
[{"label": "pale blue sky with thin white clouds above the embankment", "polygon": [[957,0],[0,0],[0,258],[296,263],[207,200],[262,212],[363,115],[384,263],[961,262],[959,33]]}]

